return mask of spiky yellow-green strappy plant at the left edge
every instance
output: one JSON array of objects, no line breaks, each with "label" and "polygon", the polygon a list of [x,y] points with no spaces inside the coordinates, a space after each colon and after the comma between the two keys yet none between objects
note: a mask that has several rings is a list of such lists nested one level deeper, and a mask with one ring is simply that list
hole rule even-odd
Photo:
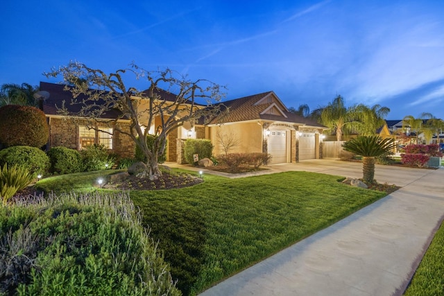
[{"label": "spiky yellow-green strappy plant at the left edge", "polygon": [[0,168],[0,198],[5,205],[19,190],[24,189],[33,180],[33,176],[23,166],[4,164]]}]

